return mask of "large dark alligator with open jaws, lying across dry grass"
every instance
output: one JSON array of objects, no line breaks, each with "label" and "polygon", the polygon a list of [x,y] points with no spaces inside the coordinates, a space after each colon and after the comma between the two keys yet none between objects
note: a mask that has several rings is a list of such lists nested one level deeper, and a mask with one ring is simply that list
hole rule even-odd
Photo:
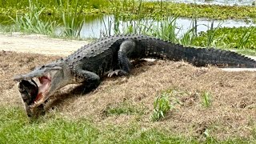
[{"label": "large dark alligator with open jaws, lying across dry grass", "polygon": [[30,105],[33,109],[68,84],[82,83],[85,89],[93,90],[104,77],[129,74],[130,60],[140,58],[185,61],[194,66],[256,67],[253,59],[229,50],[195,48],[146,35],[122,34],[100,38],[66,58],[39,66],[28,74],[17,75],[14,80],[38,78],[38,94]]}]

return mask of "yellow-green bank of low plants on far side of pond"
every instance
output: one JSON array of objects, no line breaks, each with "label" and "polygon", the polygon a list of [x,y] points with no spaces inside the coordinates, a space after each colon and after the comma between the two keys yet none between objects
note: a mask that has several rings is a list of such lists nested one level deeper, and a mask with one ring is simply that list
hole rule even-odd
[{"label": "yellow-green bank of low plants on far side of pond", "polygon": [[[62,12],[74,12],[77,7],[76,1],[70,0],[45,0],[34,1],[38,7],[44,8],[42,11],[46,15],[61,17]],[[17,3],[17,4],[16,4]],[[27,0],[0,1],[0,14],[15,15],[26,14],[30,3]],[[70,9],[66,10],[66,6]],[[78,1],[78,6],[82,7],[82,14],[117,14],[122,18],[162,18],[162,16],[178,15],[180,17],[197,16],[198,18],[256,18],[256,6],[217,6],[217,5],[196,5],[173,2],[142,2],[140,0],[122,1]]]}]

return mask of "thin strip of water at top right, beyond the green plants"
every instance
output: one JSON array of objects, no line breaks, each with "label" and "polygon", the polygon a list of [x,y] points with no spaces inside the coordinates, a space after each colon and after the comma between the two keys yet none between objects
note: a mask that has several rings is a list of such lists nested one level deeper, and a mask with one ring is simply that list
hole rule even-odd
[{"label": "thin strip of water at top right, beyond the green plants", "polygon": [[[161,0],[147,0],[150,2],[161,2]],[[252,6],[255,0],[162,0],[162,2],[197,3],[226,6]]]}]

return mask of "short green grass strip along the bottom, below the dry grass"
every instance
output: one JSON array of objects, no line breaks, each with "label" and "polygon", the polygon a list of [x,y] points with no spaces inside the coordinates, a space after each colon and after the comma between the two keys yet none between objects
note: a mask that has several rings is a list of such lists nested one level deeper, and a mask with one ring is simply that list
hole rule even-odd
[{"label": "short green grass strip along the bottom, below the dry grass", "polygon": [[[104,125],[85,118],[66,119],[56,114],[29,120],[19,107],[0,106],[0,143],[202,143],[139,122]],[[249,139],[218,141],[207,138],[203,143],[247,143]]]}]

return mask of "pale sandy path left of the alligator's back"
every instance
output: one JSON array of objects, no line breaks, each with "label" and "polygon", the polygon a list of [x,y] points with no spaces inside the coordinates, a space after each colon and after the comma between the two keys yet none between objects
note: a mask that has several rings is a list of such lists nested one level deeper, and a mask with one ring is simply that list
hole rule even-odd
[{"label": "pale sandy path left of the alligator's back", "polygon": [[41,34],[0,34],[0,50],[66,56],[88,42],[49,38]]}]

